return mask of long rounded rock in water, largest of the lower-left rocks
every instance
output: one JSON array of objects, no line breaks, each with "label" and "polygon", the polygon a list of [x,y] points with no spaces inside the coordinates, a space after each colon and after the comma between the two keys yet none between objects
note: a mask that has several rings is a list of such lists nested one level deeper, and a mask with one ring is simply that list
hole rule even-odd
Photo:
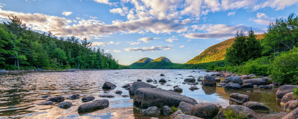
[{"label": "long rounded rock in water, largest of the lower-left rocks", "polygon": [[89,103],[81,104],[78,108],[78,112],[86,112],[93,109],[104,109],[109,107],[109,101],[106,99],[103,100],[95,100]]}]

